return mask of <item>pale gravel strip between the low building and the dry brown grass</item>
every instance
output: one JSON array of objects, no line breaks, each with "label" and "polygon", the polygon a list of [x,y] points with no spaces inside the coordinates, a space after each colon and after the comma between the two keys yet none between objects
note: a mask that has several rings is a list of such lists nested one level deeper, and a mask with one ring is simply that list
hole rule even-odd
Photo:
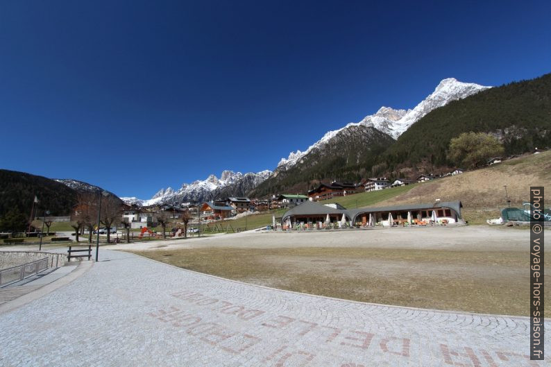
[{"label": "pale gravel strip between the low building and the dry brown grass", "polygon": [[164,250],[204,247],[299,248],[359,247],[508,251],[527,249],[527,229],[471,225],[461,227],[374,228],[315,232],[241,232],[210,237],[106,246],[117,250]]}]

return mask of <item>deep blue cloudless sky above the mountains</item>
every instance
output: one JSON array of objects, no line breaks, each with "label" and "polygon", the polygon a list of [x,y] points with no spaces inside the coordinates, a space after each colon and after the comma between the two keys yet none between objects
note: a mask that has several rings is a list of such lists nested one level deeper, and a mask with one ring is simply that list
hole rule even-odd
[{"label": "deep blue cloudless sky above the mountains", "polygon": [[274,169],[443,78],[551,71],[549,1],[2,1],[0,168],[119,196]]}]

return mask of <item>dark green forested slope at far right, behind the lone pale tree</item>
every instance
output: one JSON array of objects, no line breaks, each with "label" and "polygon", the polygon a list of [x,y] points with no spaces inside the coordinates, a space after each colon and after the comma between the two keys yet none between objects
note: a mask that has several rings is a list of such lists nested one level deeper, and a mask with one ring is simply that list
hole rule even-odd
[{"label": "dark green forested slope at far right, behind the lone pale tree", "polygon": [[474,131],[502,140],[505,155],[551,146],[551,74],[450,102],[414,123],[380,157],[375,173],[402,167],[451,167],[450,139]]}]

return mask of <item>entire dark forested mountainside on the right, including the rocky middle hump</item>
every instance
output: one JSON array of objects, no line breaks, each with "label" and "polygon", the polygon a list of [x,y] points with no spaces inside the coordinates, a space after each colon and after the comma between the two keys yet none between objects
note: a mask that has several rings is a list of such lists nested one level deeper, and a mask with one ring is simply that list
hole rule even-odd
[{"label": "entire dark forested mountainside on the right, including the rocky middle hump", "polygon": [[491,133],[505,155],[551,146],[551,74],[486,89],[436,108],[397,140],[373,128],[347,130],[287,171],[276,170],[251,196],[304,193],[320,180],[385,176],[415,178],[419,173],[446,173],[450,140],[467,132]]}]

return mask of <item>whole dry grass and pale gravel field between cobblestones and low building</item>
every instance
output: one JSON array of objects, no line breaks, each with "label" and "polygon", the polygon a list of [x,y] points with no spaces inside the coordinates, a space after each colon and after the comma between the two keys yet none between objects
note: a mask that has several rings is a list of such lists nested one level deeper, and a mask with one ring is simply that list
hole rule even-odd
[{"label": "whole dry grass and pale gravel field between cobblestones and low building", "polygon": [[527,315],[528,245],[528,230],[464,226],[249,231],[110,248],[223,278],[322,296]]}]

